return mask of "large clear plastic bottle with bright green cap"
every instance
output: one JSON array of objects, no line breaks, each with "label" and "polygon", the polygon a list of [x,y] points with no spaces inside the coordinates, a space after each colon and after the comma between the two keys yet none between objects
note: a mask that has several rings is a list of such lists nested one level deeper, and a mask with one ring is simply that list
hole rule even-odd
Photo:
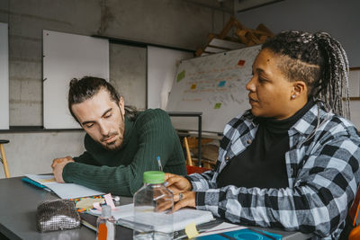
[{"label": "large clear plastic bottle with bright green cap", "polygon": [[134,221],[142,227],[133,231],[133,239],[173,239],[173,214],[169,212],[174,208],[174,196],[164,182],[163,172],[144,173],[144,186],[134,194]]}]

